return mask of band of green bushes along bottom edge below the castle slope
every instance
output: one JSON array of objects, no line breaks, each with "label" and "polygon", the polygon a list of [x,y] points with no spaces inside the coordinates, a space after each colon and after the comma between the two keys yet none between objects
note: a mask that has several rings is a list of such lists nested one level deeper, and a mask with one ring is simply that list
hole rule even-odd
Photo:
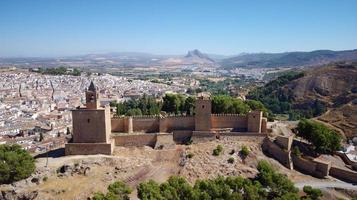
[{"label": "band of green bushes along bottom edge below the castle slope", "polygon": [[[258,175],[254,179],[245,179],[240,176],[219,176],[215,179],[197,180],[192,186],[185,178],[172,176],[164,183],[153,180],[140,183],[137,186],[138,198],[142,200],[201,200],[201,199],[318,199],[321,191],[311,187],[304,188],[306,196],[300,197],[298,189],[284,175],[277,173],[266,161],[258,164]],[[116,183],[114,183],[116,184]],[[108,188],[111,188],[109,186]],[[120,184],[118,196],[127,196],[130,190]],[[113,194],[96,193],[92,199],[108,200]]]}]

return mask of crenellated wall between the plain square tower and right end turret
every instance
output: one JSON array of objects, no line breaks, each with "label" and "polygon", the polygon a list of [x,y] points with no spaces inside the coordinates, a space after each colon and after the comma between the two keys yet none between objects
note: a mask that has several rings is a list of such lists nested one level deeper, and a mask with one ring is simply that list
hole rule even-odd
[{"label": "crenellated wall between the plain square tower and right end turret", "polygon": [[247,131],[247,117],[237,114],[212,114],[211,126],[215,128],[232,128],[236,131]]}]

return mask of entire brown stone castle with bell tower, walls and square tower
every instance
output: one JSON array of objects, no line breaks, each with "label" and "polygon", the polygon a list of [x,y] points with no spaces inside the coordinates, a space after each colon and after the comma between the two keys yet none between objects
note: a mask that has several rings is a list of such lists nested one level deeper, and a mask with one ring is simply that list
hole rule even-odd
[{"label": "entire brown stone castle with bell tower, walls and square tower", "polygon": [[267,119],[261,111],[246,115],[212,114],[209,96],[197,97],[194,116],[111,117],[110,107],[100,107],[98,89],[91,82],[86,107],[72,111],[73,141],[66,155],[107,154],[114,146],[152,146],[184,143],[189,139],[220,135],[265,135]]}]

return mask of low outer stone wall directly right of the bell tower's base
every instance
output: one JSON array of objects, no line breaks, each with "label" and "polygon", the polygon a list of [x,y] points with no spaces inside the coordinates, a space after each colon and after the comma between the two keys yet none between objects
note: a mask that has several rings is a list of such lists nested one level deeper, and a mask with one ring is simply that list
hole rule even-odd
[{"label": "low outer stone wall directly right of the bell tower's base", "polygon": [[151,146],[155,147],[156,134],[138,134],[138,135],[116,135],[113,136],[115,140],[115,146]]}]

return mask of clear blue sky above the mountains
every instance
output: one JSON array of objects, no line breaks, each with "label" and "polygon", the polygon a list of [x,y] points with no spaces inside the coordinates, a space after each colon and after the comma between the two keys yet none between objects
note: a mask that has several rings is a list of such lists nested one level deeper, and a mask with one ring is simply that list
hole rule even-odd
[{"label": "clear blue sky above the mountains", "polygon": [[1,0],[0,57],[357,48],[356,0]]}]

